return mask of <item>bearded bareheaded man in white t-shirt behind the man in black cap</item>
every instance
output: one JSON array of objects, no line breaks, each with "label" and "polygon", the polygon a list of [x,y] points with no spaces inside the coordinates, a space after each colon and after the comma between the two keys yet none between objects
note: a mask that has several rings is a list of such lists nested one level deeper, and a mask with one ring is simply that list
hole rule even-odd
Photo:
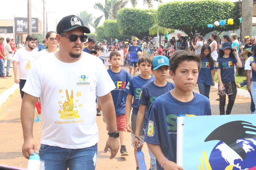
[{"label": "bearded bareheaded man in white t-shirt behind the man in black cap", "polygon": [[[37,38],[29,34],[26,37],[26,47],[17,49],[13,56],[14,82],[19,84],[21,98],[23,98],[24,87],[31,66],[34,64],[38,51],[35,49]],[[19,70],[18,70],[19,69]],[[18,72],[19,71],[19,74]]]}]

